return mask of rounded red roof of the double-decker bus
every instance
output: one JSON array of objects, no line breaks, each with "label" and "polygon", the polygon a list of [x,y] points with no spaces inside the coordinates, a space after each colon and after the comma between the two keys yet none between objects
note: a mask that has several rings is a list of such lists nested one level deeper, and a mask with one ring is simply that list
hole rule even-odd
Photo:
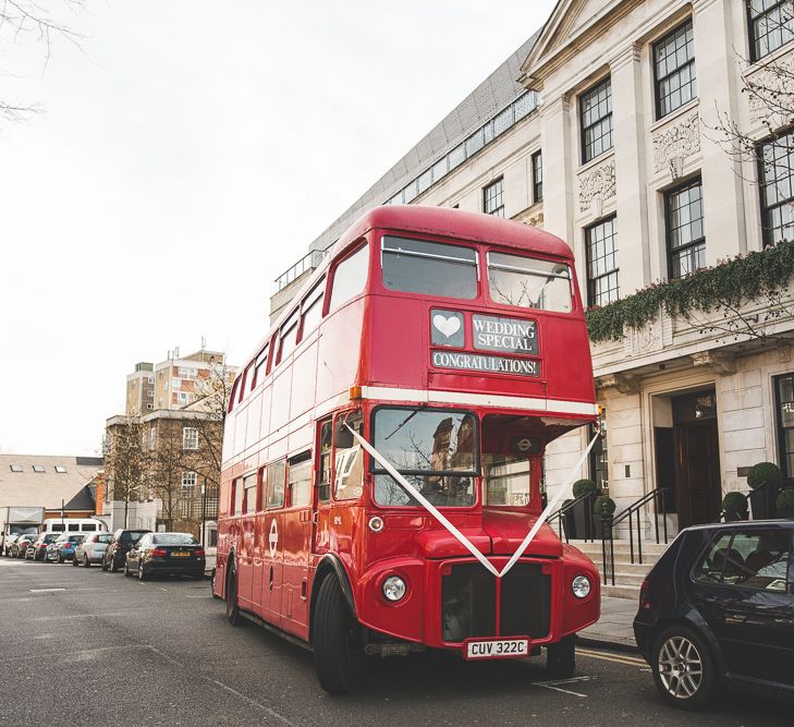
[{"label": "rounded red roof of the double-decker bus", "polygon": [[376,207],[359,217],[333,245],[330,259],[376,228],[425,232],[471,242],[489,242],[525,252],[530,249],[541,255],[573,257],[571,247],[562,240],[523,222],[449,207],[389,205]]}]

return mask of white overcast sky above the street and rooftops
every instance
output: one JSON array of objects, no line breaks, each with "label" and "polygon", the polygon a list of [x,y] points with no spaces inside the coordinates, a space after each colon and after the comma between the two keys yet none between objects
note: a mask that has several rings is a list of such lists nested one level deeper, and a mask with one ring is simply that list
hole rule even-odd
[{"label": "white overcast sky above the street and rooftops", "polygon": [[[59,10],[63,0],[39,0]],[[98,450],[125,377],[240,364],[274,278],[554,0],[86,0],[0,32],[0,451]]]}]

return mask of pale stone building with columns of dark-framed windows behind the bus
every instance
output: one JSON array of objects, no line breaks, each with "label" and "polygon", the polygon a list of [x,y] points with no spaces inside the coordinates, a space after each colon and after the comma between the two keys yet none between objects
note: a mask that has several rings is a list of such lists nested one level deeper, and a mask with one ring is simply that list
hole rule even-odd
[{"label": "pale stone building with columns of dark-framed windows behind the bus", "polygon": [[[752,280],[726,262],[794,240],[791,113],[774,108],[794,100],[792,14],[790,0],[561,0],[298,266],[364,210],[422,204],[559,235],[594,311],[649,300],[637,291],[672,295],[709,268]],[[748,93],[759,87],[778,93]],[[300,278],[282,276],[274,313]],[[794,476],[791,286],[733,305],[718,293],[673,314],[643,303],[618,335],[591,327],[607,437],[589,474],[618,511],[664,487],[673,529],[709,522],[724,493],[746,490],[750,465]],[[589,436],[549,447],[550,490]]]}]

